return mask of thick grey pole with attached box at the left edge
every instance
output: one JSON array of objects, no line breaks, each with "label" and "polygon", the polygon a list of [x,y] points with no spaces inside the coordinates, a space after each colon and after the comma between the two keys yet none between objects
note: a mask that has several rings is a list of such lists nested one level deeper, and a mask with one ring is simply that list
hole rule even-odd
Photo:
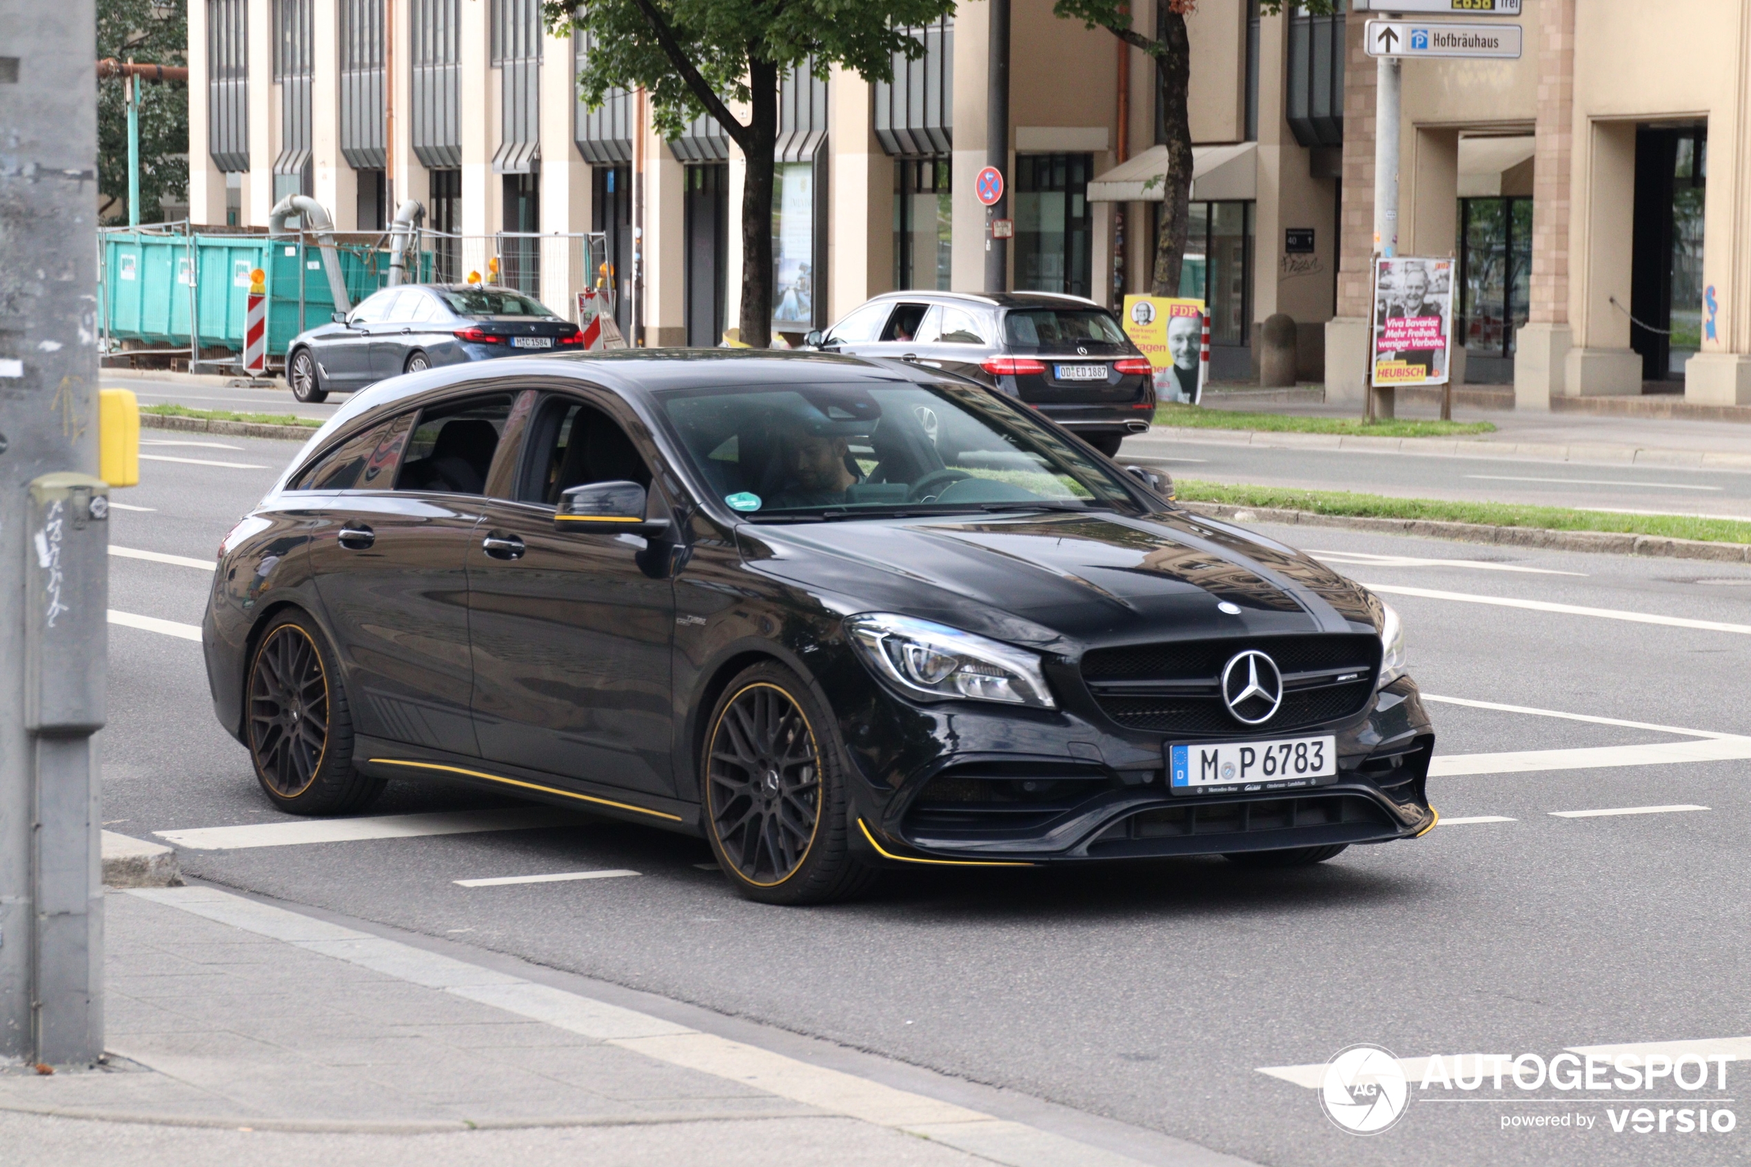
[{"label": "thick grey pole with attached box at the left edge", "polygon": [[95,0],[14,5],[0,72],[0,1057],[103,1052]]}]

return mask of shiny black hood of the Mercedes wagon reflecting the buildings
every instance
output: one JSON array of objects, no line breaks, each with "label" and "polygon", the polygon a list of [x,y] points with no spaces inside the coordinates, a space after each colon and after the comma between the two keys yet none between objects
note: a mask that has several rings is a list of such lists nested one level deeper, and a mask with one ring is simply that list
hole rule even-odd
[{"label": "shiny black hood of the Mercedes wagon reflecting the buildings", "polygon": [[[744,525],[758,570],[847,611],[1012,642],[1366,632],[1368,593],[1319,562],[1185,511]],[[1231,604],[1240,614],[1222,612]]]}]

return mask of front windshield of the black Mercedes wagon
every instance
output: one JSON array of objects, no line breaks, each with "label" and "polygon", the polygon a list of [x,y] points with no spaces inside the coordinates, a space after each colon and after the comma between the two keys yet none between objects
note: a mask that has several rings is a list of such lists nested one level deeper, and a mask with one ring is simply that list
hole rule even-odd
[{"label": "front windshield of the black Mercedes wagon", "polygon": [[760,521],[1121,509],[1115,471],[975,385],[655,394],[709,490]]}]

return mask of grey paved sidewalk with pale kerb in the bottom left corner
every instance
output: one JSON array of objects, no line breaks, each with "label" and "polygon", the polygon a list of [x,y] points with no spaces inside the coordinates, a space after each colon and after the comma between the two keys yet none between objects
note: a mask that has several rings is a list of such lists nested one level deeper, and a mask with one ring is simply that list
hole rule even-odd
[{"label": "grey paved sidewalk with pale kerb in the bottom left corner", "polygon": [[105,903],[109,1066],[0,1066],[0,1162],[1238,1164],[1149,1132],[1121,1155],[212,887]]}]

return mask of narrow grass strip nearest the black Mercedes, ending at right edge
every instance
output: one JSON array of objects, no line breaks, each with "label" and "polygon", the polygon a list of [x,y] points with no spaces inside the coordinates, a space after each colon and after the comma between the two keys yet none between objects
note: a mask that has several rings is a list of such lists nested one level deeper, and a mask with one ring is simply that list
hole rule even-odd
[{"label": "narrow grass strip nearest the black Mercedes, ending at right edge", "polygon": [[1227,502],[1276,511],[1311,511],[1352,518],[1420,518],[1439,523],[1483,523],[1487,527],[1536,527],[1541,530],[1602,530],[1662,539],[1704,542],[1751,542],[1751,521],[1690,518],[1684,514],[1611,514],[1571,507],[1518,506],[1513,502],[1448,502],[1443,499],[1390,499],[1348,490],[1289,490],[1282,486],[1229,486],[1175,478],[1182,502]]}]

